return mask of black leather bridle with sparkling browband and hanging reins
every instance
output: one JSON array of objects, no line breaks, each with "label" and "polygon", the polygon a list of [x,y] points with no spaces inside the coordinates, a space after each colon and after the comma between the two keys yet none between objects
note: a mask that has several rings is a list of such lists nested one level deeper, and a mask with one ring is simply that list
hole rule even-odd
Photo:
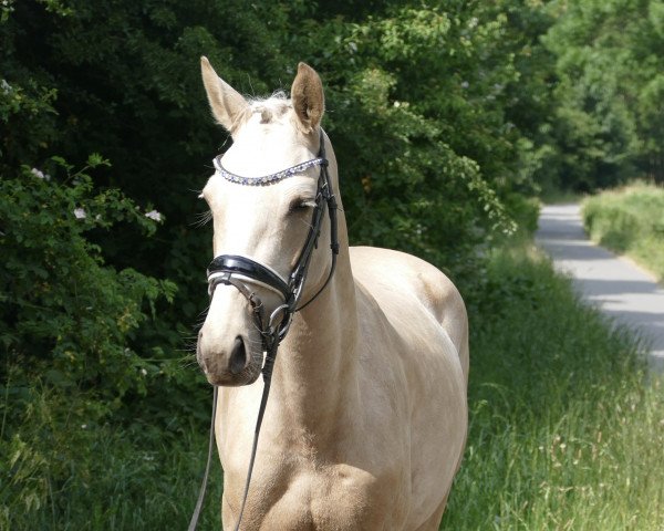
[{"label": "black leather bridle with sparkling browband and hanging reins", "polygon": [[[274,361],[277,360],[279,344],[283,337],[286,337],[286,334],[290,329],[293,314],[311,304],[322,293],[322,291],[330,283],[330,280],[332,279],[336,268],[336,256],[339,254],[339,238],[336,227],[338,206],[336,198],[332,192],[332,183],[330,181],[330,175],[328,173],[329,163],[325,158],[325,138],[323,129],[320,129],[320,149],[317,158],[298,164],[297,166],[278,171],[276,174],[262,177],[242,177],[231,174],[221,165],[221,155],[215,158],[214,164],[218,175],[224,177],[226,180],[243,186],[270,186],[284,178],[301,174],[311,167],[320,166],[321,168],[318,178],[315,206],[313,207],[309,233],[307,235],[304,246],[302,247],[295,266],[293,267],[293,270],[288,279],[284,279],[269,266],[259,263],[249,257],[242,257],[238,254],[221,254],[216,257],[207,268],[208,294],[210,299],[212,298],[215,290],[219,284],[232,285],[247,299],[251,305],[253,321],[261,334],[262,351],[266,353],[266,361],[261,369],[263,376],[263,393],[258,412],[258,418],[256,420],[251,459],[249,461],[249,470],[247,472],[247,481],[245,485],[245,496],[242,498],[240,514],[235,528],[236,531],[238,531],[240,529],[242,513],[245,512],[247,494],[249,493],[249,483],[251,481],[251,472],[253,470],[253,461],[256,460],[256,450],[258,447],[258,436],[260,434],[260,426],[262,424],[263,414],[268,403],[268,396],[272,381],[272,368],[274,366]],[[323,223],[325,205],[328,207],[328,215],[330,217],[330,249],[332,251],[330,272],[328,273],[325,282],[323,282],[322,287],[315,292],[315,294],[309,299],[309,301],[300,305],[300,300],[304,290],[304,283],[307,282],[307,274],[309,272],[311,257],[313,256],[314,249],[318,248],[318,239]],[[277,306],[277,309],[273,310],[268,316],[261,299],[252,289],[252,287],[260,287],[277,293],[280,296],[282,304]],[[196,529],[203,507],[203,500],[205,498],[207,477],[214,446],[212,441],[215,436],[214,430],[216,409],[217,386],[214,388],[212,419],[210,424],[207,465],[198,496],[198,501],[196,503],[196,509],[194,510],[194,514],[191,516],[191,520],[189,522],[189,531],[194,531]]]}]

